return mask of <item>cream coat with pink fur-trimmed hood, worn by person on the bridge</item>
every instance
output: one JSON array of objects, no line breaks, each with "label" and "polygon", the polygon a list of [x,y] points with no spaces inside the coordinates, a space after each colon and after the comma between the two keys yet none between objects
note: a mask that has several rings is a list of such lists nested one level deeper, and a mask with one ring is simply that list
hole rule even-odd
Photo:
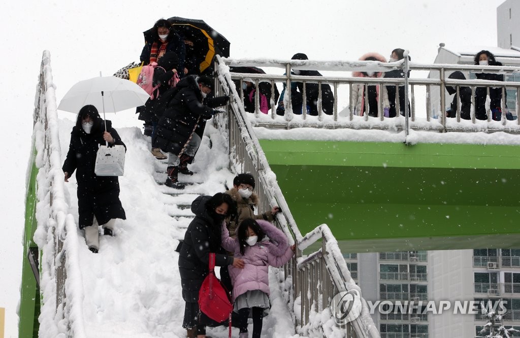
[{"label": "cream coat with pink fur-trimmed hood, worn by person on the bridge", "polygon": [[[367,58],[373,57],[376,58],[380,62],[386,62],[386,59],[378,53],[367,53],[359,58],[361,61],[365,61]],[[382,77],[383,72],[375,73],[376,77]],[[367,77],[365,72],[352,72],[352,76],[354,77]],[[371,100],[375,99],[375,102],[380,102],[381,96],[383,97],[383,101],[381,102],[381,105],[383,108],[390,108],[390,103],[388,101],[388,92],[386,89],[386,86],[382,86],[383,93],[379,93],[379,86],[368,86],[369,87],[369,102]],[[372,87],[372,88],[371,88]],[[375,90],[371,90],[375,87]],[[375,95],[375,97],[372,97],[372,95]],[[362,83],[354,84],[352,85],[352,98],[350,98],[350,105],[355,107],[355,115],[363,116],[363,114],[366,111],[366,106],[368,106],[365,102],[365,85]],[[369,108],[369,115],[370,116],[377,116],[377,114],[374,112],[377,111],[377,108],[374,110],[374,108]]]}]

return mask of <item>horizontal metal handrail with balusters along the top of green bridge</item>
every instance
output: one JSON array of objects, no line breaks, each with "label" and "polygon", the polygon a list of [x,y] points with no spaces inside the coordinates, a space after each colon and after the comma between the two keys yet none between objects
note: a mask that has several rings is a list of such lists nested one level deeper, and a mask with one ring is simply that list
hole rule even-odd
[{"label": "horizontal metal handrail with balusters along the top of green bridge", "polygon": [[[255,81],[256,84],[258,84],[259,81],[268,81],[271,83],[271,85],[274,86],[275,82],[284,82],[286,87],[289,88],[291,82],[301,82],[303,83],[303,86],[306,85],[306,83],[328,83],[333,87],[334,90],[334,97],[336,98],[334,100],[334,108],[333,108],[333,121],[330,121],[330,119],[327,119],[324,121],[324,116],[326,116],[321,111],[321,90],[319,90],[318,94],[318,121],[316,120],[310,120],[307,121],[307,114],[306,110],[303,109],[303,115],[301,119],[297,119],[296,121],[293,121],[294,114],[292,112],[292,107],[290,106],[291,100],[290,100],[290,90],[286,91],[286,95],[284,97],[284,106],[285,106],[285,116],[283,119],[277,118],[277,115],[275,113],[275,105],[274,102],[271,102],[271,120],[266,119],[257,119],[253,123],[256,126],[273,126],[273,127],[284,127],[284,128],[293,128],[293,127],[324,127],[324,128],[381,128],[381,129],[397,129],[397,130],[404,130],[406,132],[406,135],[408,135],[409,129],[429,129],[432,131],[439,131],[439,132],[497,132],[497,131],[503,131],[506,133],[514,133],[514,134],[520,134],[520,119],[517,119],[513,123],[507,123],[508,120],[505,118],[506,113],[506,101],[505,101],[505,95],[502,95],[502,116],[500,123],[493,123],[493,124],[483,124],[482,122],[476,121],[475,116],[472,116],[472,123],[473,127],[470,128],[467,125],[465,127],[462,127],[460,124],[453,124],[453,122],[461,122],[460,118],[460,103],[457,105],[457,119],[447,119],[445,116],[444,110],[446,109],[447,105],[447,97],[445,94],[445,88],[446,86],[456,86],[457,93],[459,92],[460,86],[468,86],[472,88],[472,106],[474,106],[475,102],[473,97],[475,93],[476,87],[487,87],[488,89],[490,87],[499,87],[502,88],[503,93],[505,94],[505,89],[516,89],[516,112],[518,115],[518,110],[520,107],[520,82],[501,82],[501,81],[487,81],[487,80],[452,80],[447,79],[447,75],[450,71],[454,70],[460,70],[460,71],[473,71],[473,72],[487,72],[487,73],[500,73],[500,74],[515,74],[520,73],[520,68],[515,66],[474,66],[474,65],[462,65],[462,64],[418,64],[418,63],[411,63],[411,62],[404,62],[404,61],[398,61],[398,62],[392,62],[392,63],[384,63],[379,61],[310,61],[310,60],[237,60],[237,59],[223,59],[228,66],[251,66],[254,65],[256,67],[277,67],[285,70],[284,75],[275,75],[275,74],[246,74],[246,73],[231,73],[231,79],[232,80],[241,80],[244,77],[251,77],[253,81]],[[294,75],[291,74],[292,69],[307,69],[307,70],[327,70],[327,71],[365,71],[365,70],[372,70],[372,71],[390,71],[395,69],[403,69],[404,76],[403,78],[367,78],[367,77],[352,77],[352,76],[302,76],[302,75]],[[438,72],[439,73],[439,79],[419,79],[419,78],[409,78],[408,71],[411,70],[418,70],[418,71],[431,71],[431,72]],[[405,86],[405,88],[409,88],[411,95],[410,100],[407,100],[409,90],[405,90],[405,101],[410,102],[411,111],[404,114],[404,123],[399,122],[399,119],[395,118],[385,118],[382,114],[382,108],[378,107],[378,119],[383,121],[394,121],[392,126],[385,125],[384,123],[382,125],[375,125],[374,126],[374,120],[371,120],[371,123],[363,124],[362,121],[358,121],[356,119],[356,115],[354,114],[354,105],[353,102],[350,102],[350,112],[348,118],[343,118],[342,116],[338,116],[337,111],[337,92],[338,92],[338,86],[339,85],[348,85],[348,95],[349,100],[352,100],[352,91],[353,91],[353,85],[359,85],[359,84],[371,84],[371,85],[379,85],[381,87],[382,85],[391,86],[394,85],[396,88],[399,86]],[[426,121],[429,123],[429,125],[425,126],[424,123],[420,123],[415,117],[415,109],[417,107],[415,103],[415,87],[417,86],[424,86],[426,88]],[[321,89],[321,86],[318,87]],[[444,107],[441,108],[439,111],[438,118],[436,119],[435,116],[432,118],[432,112],[436,109],[432,107],[432,90],[438,90],[436,88],[440,88],[440,93],[438,95],[440,96],[440,106]],[[258,96],[258,91],[255,94],[255,102],[256,98]],[[305,90],[302,93],[302,95],[306,95]],[[273,97],[271,95],[271,97]],[[304,98],[305,101],[305,98]],[[408,110],[408,105],[405,105],[405,107],[398,107],[399,105],[399,92],[396,90],[396,106],[399,110]],[[380,105],[378,105],[380,106]],[[259,109],[255,105],[255,117],[258,118]],[[401,113],[402,115],[402,113]],[[488,115],[488,122],[491,121],[491,111],[487,111]],[[365,116],[363,118],[365,121],[369,121],[368,116]],[[410,120],[410,121],[409,121]],[[349,123],[349,122],[355,122],[355,123]],[[418,123],[419,122],[419,123]],[[401,125],[402,124],[402,125]]]}]

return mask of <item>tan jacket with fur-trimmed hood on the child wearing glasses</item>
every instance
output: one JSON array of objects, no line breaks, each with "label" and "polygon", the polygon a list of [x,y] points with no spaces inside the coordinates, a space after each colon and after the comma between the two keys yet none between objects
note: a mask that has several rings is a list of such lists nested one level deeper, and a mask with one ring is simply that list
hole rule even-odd
[{"label": "tan jacket with fur-trimmed hood on the child wearing glasses", "polygon": [[238,189],[233,187],[226,191],[226,193],[231,196],[233,201],[237,202],[237,215],[226,219],[226,225],[229,229],[229,236],[235,237],[237,227],[242,223],[244,219],[253,218],[253,219],[263,219],[269,222],[272,222],[274,216],[271,211],[268,210],[260,215],[255,215],[255,206],[258,205],[258,195],[256,192],[251,193],[249,198],[243,198],[238,193]]}]

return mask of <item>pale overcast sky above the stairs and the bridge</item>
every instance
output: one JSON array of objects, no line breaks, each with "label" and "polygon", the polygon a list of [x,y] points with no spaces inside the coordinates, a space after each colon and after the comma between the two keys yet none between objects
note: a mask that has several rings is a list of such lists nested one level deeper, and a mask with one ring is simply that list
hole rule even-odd
[{"label": "pale overcast sky above the stairs and the bridge", "polygon": [[[389,57],[410,50],[412,61],[432,63],[437,46],[497,45],[496,9],[503,0],[146,2],[136,0],[15,1],[0,4],[6,215],[0,227],[0,307],[6,337],[17,336],[25,172],[42,51],[50,50],[59,99],[77,81],[110,75],[139,59],[142,31],[161,18],[203,19],[231,42],[231,57],[356,60],[367,51]],[[9,258],[9,259],[7,259]]]}]

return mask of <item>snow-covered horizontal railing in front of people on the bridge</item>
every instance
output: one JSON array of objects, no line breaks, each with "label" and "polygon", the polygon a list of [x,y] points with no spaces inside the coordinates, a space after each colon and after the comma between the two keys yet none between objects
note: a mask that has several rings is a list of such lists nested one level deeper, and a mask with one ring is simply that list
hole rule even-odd
[{"label": "snow-covered horizontal railing in front of people on the bridge", "polygon": [[[276,67],[285,71],[285,75],[279,74],[258,74],[258,73],[231,73],[231,79],[241,82],[245,78],[250,78],[258,88],[259,82],[268,82],[271,84],[272,95],[270,102],[269,114],[263,114],[259,110],[259,91],[256,90],[255,99],[255,113],[250,114],[250,119],[255,126],[279,127],[279,128],[295,128],[295,127],[319,127],[319,128],[354,128],[354,129],[391,129],[391,130],[432,130],[438,132],[497,132],[503,131],[507,133],[520,133],[520,119],[509,121],[505,118],[506,112],[512,112],[514,117],[518,115],[518,107],[520,107],[520,82],[500,82],[500,81],[486,81],[486,80],[452,80],[448,79],[448,75],[453,71],[462,72],[487,72],[500,74],[517,74],[520,68],[512,66],[464,66],[460,64],[418,64],[412,62],[405,62],[404,60],[397,62],[379,62],[379,61],[310,61],[310,60],[237,60],[224,59],[228,66],[255,66],[255,67]],[[330,76],[302,76],[291,74],[292,69],[298,70],[324,70],[334,71],[338,75]],[[374,71],[386,72],[391,70],[403,70],[404,78],[368,78],[368,77],[353,77],[348,72],[357,71]],[[433,76],[438,74],[438,78],[425,79],[418,77],[408,77],[409,72],[405,71],[430,71]],[[298,115],[293,113],[291,107],[290,95],[291,91],[286,90],[284,95],[285,113],[283,116],[276,114],[276,106],[278,102],[274,100],[274,86],[276,83],[285,83],[287,88],[295,82],[300,82],[305,86],[307,83],[330,84],[334,94],[334,106],[332,115],[326,115],[321,109],[322,93],[321,86],[318,86],[318,101],[317,108],[319,115],[309,116],[306,109],[303,109],[303,114]],[[396,88],[396,111],[405,111],[410,108],[409,118],[404,113],[398,114],[395,118],[387,118],[384,116],[383,107],[378,102],[378,116],[370,117],[358,116],[355,111],[355,102],[352,102],[352,93],[355,88],[354,85],[363,84],[378,86],[382,92],[383,86],[395,86]],[[408,87],[405,94],[408,95],[410,106],[399,107],[399,86]],[[445,110],[449,106],[446,97],[446,86],[456,87],[457,92],[461,86],[471,87],[472,89],[472,106],[471,106],[471,120],[461,121],[460,118],[460,102],[457,105],[457,118],[446,118]],[[486,105],[487,121],[479,121],[475,119],[474,114],[474,97],[476,87],[486,87],[489,93],[489,88],[497,87],[502,89],[502,118],[500,121],[493,121],[491,119],[491,109],[489,104]],[[366,87],[365,87],[366,89]],[[516,108],[506,108],[506,89],[514,90],[516,98],[514,99]],[[418,92],[424,95],[418,95]],[[367,90],[365,90],[367,93]],[[305,102],[306,93],[302,93],[303,102]],[[240,93],[243,99],[243,94]],[[418,101],[421,100],[423,102]],[[439,101],[438,105],[433,103]],[[451,100],[450,100],[451,101]],[[488,97],[489,101],[489,97]],[[511,98],[510,100],[511,101]],[[339,105],[346,106],[346,108],[339,108]],[[418,116],[418,107],[420,113],[424,117]],[[440,112],[440,113],[439,113]],[[252,118],[254,116],[254,118]],[[422,115],[421,115],[422,116]]]}]

